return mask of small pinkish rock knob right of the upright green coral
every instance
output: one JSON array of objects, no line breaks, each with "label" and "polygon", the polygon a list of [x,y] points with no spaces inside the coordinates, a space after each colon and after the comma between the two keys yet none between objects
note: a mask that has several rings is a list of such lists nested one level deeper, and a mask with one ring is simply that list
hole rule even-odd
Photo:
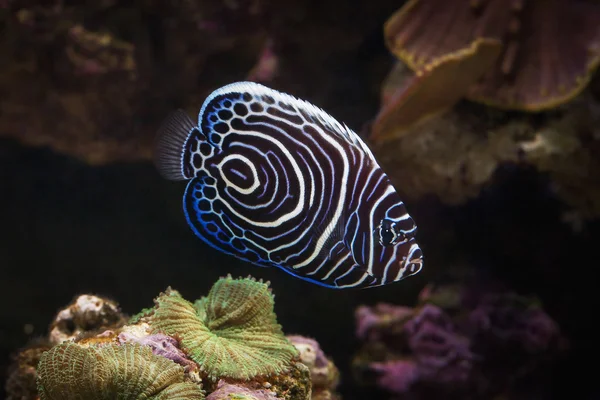
[{"label": "small pinkish rock knob right of the upright green coral", "polygon": [[310,370],[312,398],[335,398],[335,388],[339,383],[340,372],[325,356],[319,343],[300,335],[288,335],[288,340],[300,352],[300,361]]}]

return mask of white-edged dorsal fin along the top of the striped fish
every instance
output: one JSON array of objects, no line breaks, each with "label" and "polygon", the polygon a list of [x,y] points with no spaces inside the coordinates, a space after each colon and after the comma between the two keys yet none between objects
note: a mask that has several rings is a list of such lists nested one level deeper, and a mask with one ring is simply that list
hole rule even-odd
[{"label": "white-edged dorsal fin along the top of the striped fish", "polygon": [[226,123],[225,120],[232,116],[247,119],[259,115],[268,107],[274,107],[283,114],[297,114],[307,123],[321,127],[326,133],[370,153],[366,144],[353,130],[321,108],[255,82],[231,83],[212,92],[202,105],[198,122],[208,141],[218,146],[222,139],[219,132],[227,132],[227,128],[219,124]]}]

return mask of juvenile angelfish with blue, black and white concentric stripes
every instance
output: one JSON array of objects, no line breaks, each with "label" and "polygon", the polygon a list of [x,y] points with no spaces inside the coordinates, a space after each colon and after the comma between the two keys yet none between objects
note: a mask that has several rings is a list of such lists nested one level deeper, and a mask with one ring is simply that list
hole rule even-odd
[{"label": "juvenile angelfish with blue, black and white concentric stripes", "polygon": [[417,227],[360,137],[320,108],[252,82],[215,90],[198,123],[178,110],[155,162],[189,180],[183,210],[210,246],[331,288],[421,270]]}]

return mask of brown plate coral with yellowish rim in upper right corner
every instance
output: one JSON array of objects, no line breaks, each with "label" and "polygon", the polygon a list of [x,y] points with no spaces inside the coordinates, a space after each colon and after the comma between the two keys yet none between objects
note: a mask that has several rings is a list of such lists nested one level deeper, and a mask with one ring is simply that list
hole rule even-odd
[{"label": "brown plate coral with yellowish rim in upper right corner", "polygon": [[[410,122],[447,109],[463,96],[525,111],[573,99],[600,63],[599,17],[600,6],[585,0],[409,1],[384,30],[388,48],[416,75],[384,107],[374,136],[406,133]],[[499,46],[483,56],[467,51],[481,41]],[[446,60],[468,67],[448,68]],[[394,114],[402,123],[389,122]]]}]

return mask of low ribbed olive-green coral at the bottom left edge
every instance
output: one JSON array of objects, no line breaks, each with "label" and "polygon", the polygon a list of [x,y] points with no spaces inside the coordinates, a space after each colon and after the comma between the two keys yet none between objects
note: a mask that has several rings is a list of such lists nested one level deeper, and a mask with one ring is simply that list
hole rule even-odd
[{"label": "low ribbed olive-green coral at the bottom left edge", "polygon": [[203,399],[200,386],[184,382],[183,367],[138,344],[84,347],[65,342],[38,365],[42,400]]}]

